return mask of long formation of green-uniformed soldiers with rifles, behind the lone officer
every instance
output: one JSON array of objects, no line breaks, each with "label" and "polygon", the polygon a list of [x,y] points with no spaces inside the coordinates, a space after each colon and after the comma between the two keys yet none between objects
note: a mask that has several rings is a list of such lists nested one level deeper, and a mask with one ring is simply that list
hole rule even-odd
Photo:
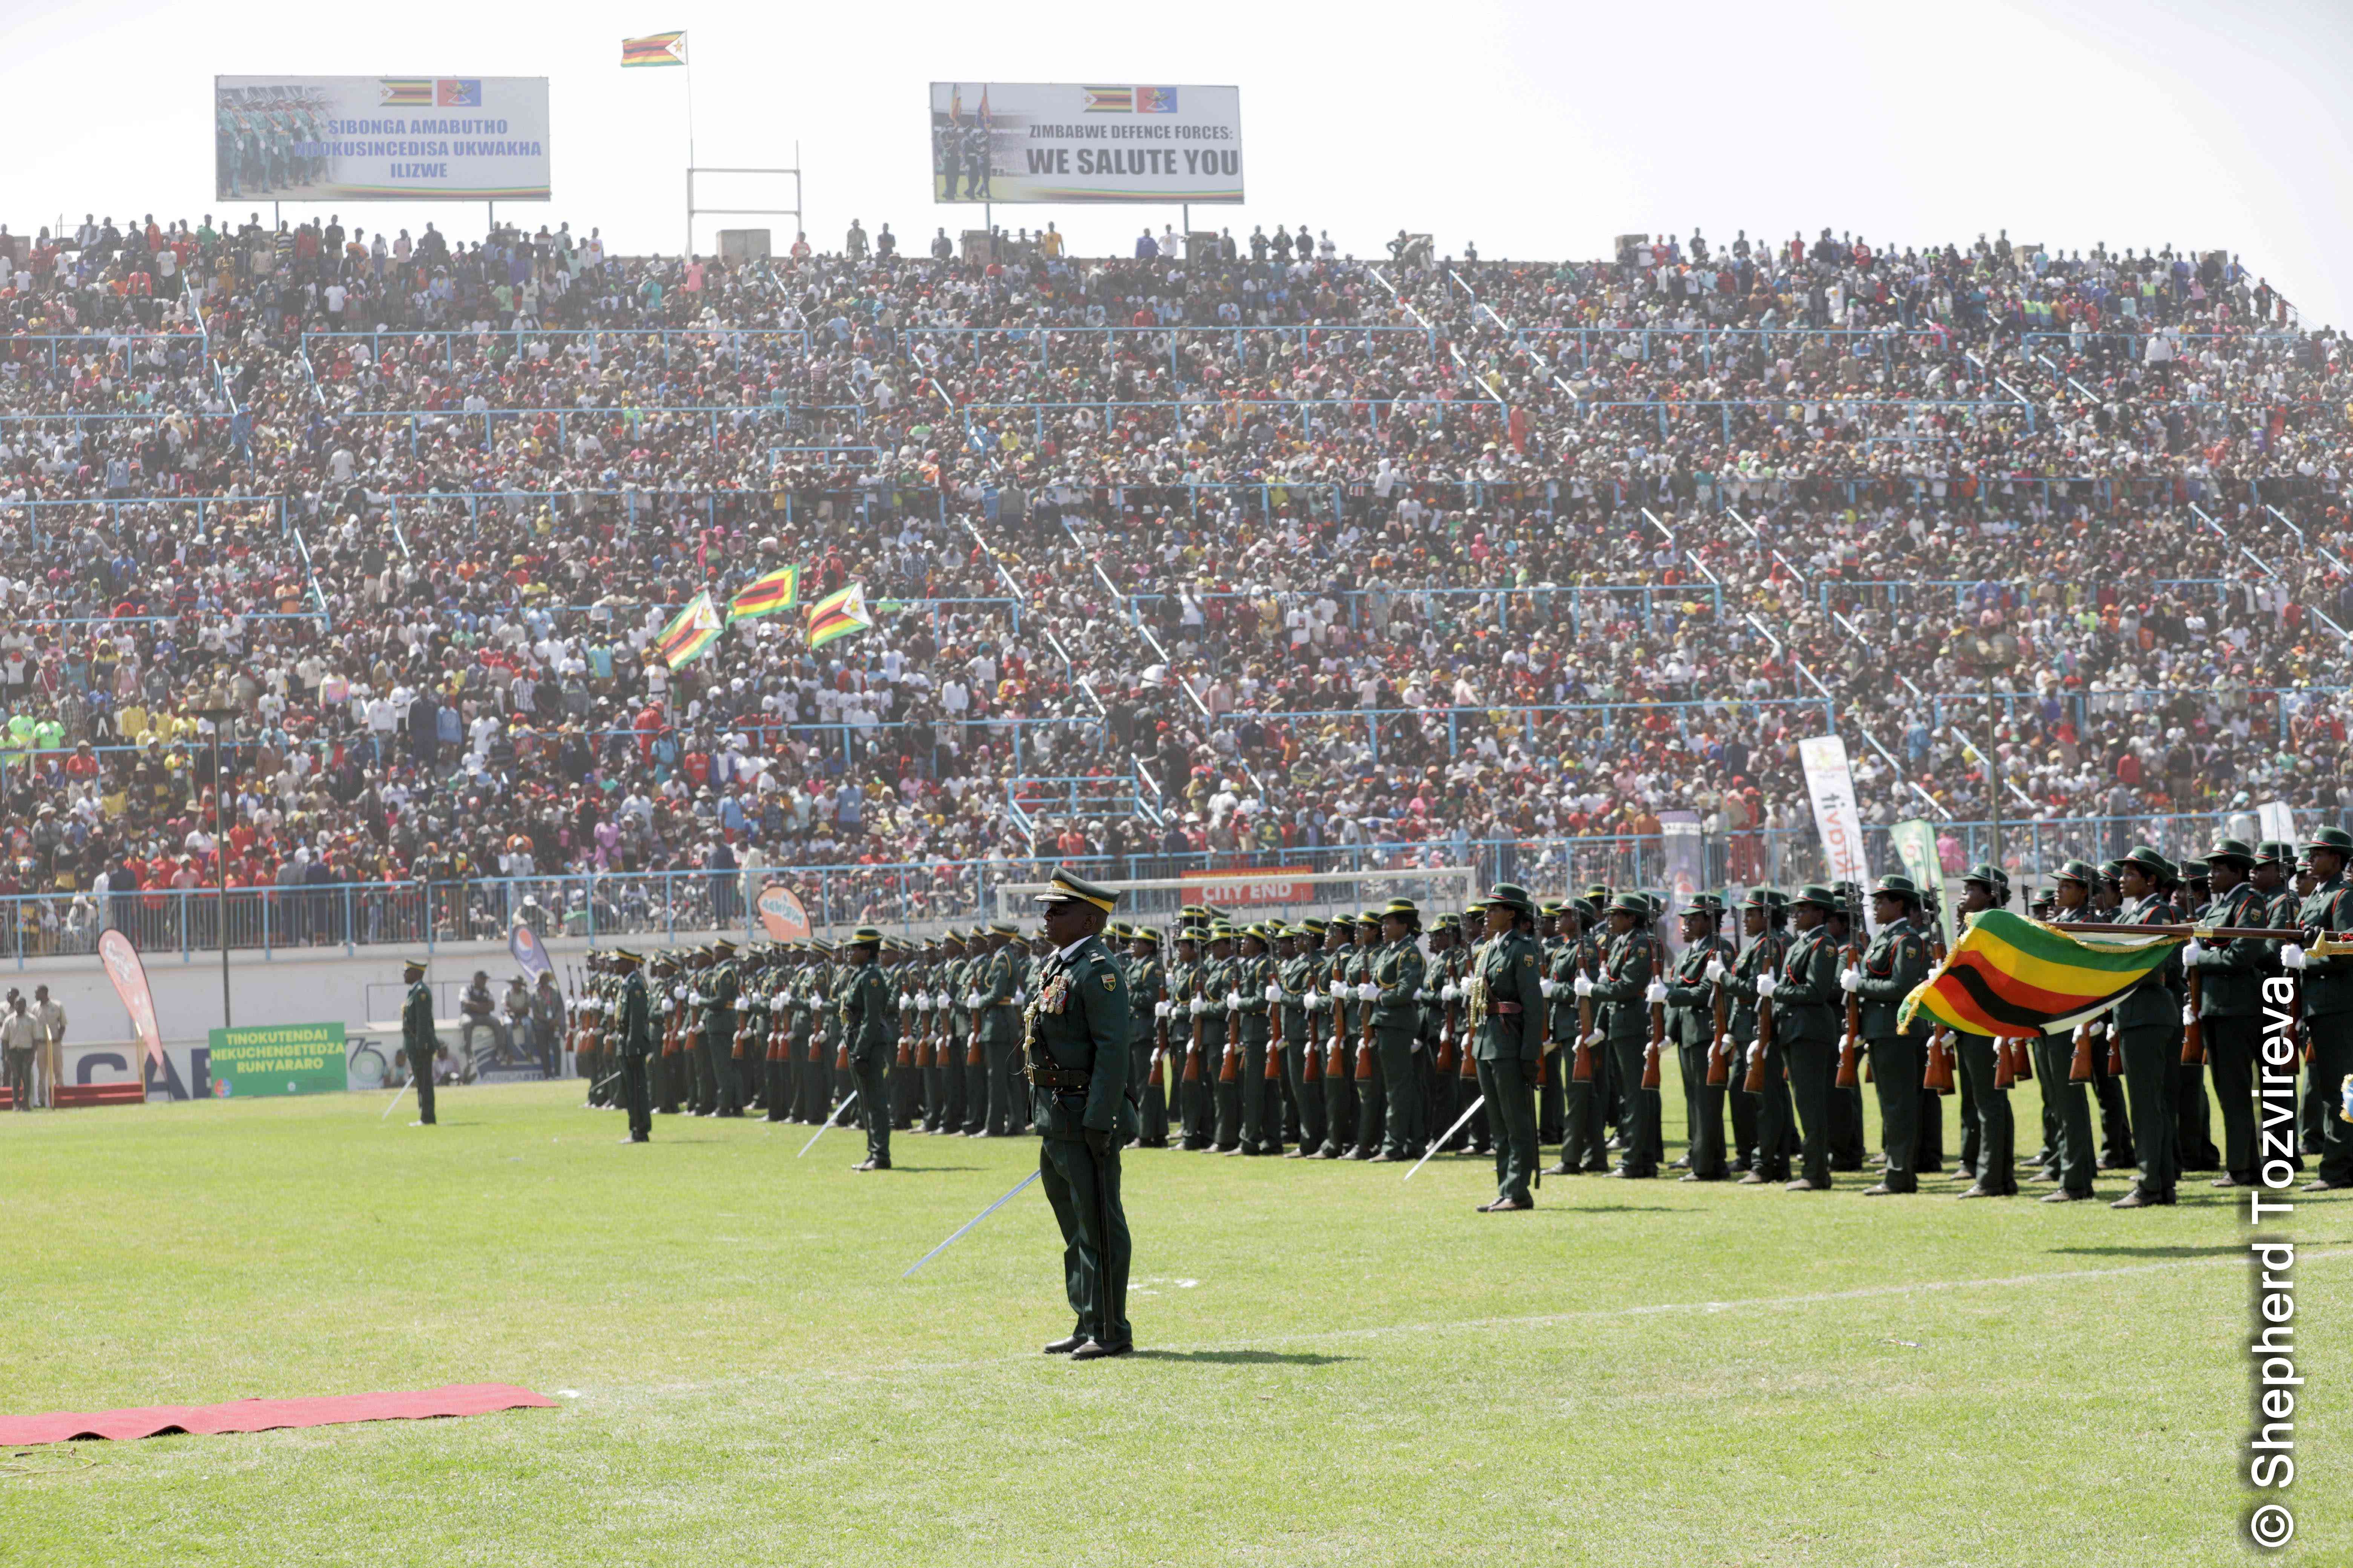
[{"label": "long formation of green-uniformed soldiers with rifles, behind the lone officer", "polygon": [[[1654,931],[1659,896],[1607,886],[1546,905],[1499,886],[1428,933],[1409,900],[1327,922],[1240,926],[1188,905],[1172,943],[1153,926],[1113,922],[1106,938],[1132,987],[1129,1074],[1144,1084],[1139,1143],[1409,1161],[1442,1135],[1449,1150],[1494,1152],[1504,1208],[1532,1204],[1541,1175],[1577,1173],[1680,1171],[1699,1182],[1828,1190],[1838,1171],[1878,1166],[1868,1192],[1901,1194],[1944,1171],[1941,1103],[1958,1098],[1960,1197],[2012,1197],[2009,1091],[2038,1081],[2042,1135],[2024,1161],[2026,1180],[2054,1187],[2047,1201],[2075,1201],[2092,1197],[2099,1168],[2129,1168],[2134,1185],[2118,1206],[2139,1208],[2174,1201],[2181,1171],[2254,1185],[2259,987],[2294,966],[2311,1060],[2297,1161],[2301,1168],[2301,1157],[2322,1154],[2318,1185],[2348,1185],[2353,1143],[2337,1138],[2339,1121],[2325,1110],[2353,1072],[2339,1041],[2339,1023],[2353,1027],[2353,1018],[2339,1020],[2339,1011],[2353,1013],[2353,961],[2306,957],[2292,940],[2294,929],[2353,929],[2353,910],[2339,910],[2353,839],[2339,839],[2341,830],[2320,830],[2301,858],[2289,844],[2226,839],[2179,867],[2151,846],[2106,865],[2061,865],[2035,905],[2061,926],[2282,931],[2271,943],[2191,943],[2075,1037],[1948,1032],[1925,1011],[1906,1020],[1904,1001],[1939,961],[1941,938],[1932,893],[1901,875],[1880,877],[1868,896],[1852,884],[1795,896],[1751,889],[1737,910],[1737,940],[1725,931],[1734,910],[1699,893],[1680,914],[1680,954]],[[1977,865],[1962,877],[1965,919],[2012,903],[2002,867]],[[1525,1016],[1478,973],[1499,938],[1511,938],[1504,978],[1520,978],[1513,966],[1534,971]],[[1042,957],[1042,936],[1024,943],[1012,924],[927,943],[878,936],[873,964],[896,1067],[885,1133],[1028,1131],[1019,1032]],[[2184,1048],[2191,973],[2200,980],[2198,1060]],[[849,978],[854,969],[821,938],[744,954],[732,943],[656,954],[659,1110],[760,1110],[805,1124],[833,1117],[859,1088],[835,1006]],[[1506,1009],[1508,1034],[1527,1037],[1534,1093],[1525,1135],[1518,1095],[1489,1095],[1478,1067],[1494,1034],[1480,1025],[1499,1018],[1494,1009]],[[591,1103],[612,1103],[598,1056],[616,1048],[612,1004],[591,997],[581,1013]],[[1661,1133],[1668,1072],[1687,1131],[1671,1164]],[[1880,1110],[1878,1154],[1864,1147],[1866,1086]],[[1539,1171],[1539,1145],[1558,1145],[1558,1164]],[[2339,1152],[2327,1157],[2325,1147]]]}]

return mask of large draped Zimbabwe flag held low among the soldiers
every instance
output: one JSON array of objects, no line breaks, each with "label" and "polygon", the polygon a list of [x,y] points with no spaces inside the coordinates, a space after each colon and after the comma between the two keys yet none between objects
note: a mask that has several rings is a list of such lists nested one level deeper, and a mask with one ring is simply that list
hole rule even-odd
[{"label": "large draped Zimbabwe flag held low among the soldiers", "polygon": [[2059,1034],[2094,1018],[2174,954],[2186,933],[2075,936],[2009,910],[1984,910],[1944,966],[1922,980],[1897,1027],[1913,1013],[1962,1034]]}]

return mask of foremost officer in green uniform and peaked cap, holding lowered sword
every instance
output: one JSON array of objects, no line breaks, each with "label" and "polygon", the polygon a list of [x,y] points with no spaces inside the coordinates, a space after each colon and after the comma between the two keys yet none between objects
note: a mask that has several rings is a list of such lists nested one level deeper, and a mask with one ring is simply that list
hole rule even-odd
[{"label": "foremost officer in green uniform and peaked cap, holding lowered sword", "polygon": [[1136,1345],[1127,1321],[1134,1246],[1120,1204],[1120,1145],[1136,1133],[1127,1086],[1134,1023],[1127,985],[1099,936],[1118,896],[1056,867],[1038,900],[1054,952],[1040,964],[1038,994],[1021,1018],[1021,1053],[1040,1133],[1038,1171],[1061,1225],[1075,1319],[1047,1354],[1096,1361]]}]

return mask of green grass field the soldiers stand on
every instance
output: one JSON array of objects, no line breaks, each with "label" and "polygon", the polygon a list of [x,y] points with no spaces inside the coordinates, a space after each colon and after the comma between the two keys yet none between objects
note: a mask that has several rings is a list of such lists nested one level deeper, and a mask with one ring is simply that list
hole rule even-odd
[{"label": "green grass field the soldiers stand on", "polygon": [[[621,1147],[579,1084],[447,1091],[433,1131],[379,1107],[0,1117],[0,1408],[440,1382],[560,1408],[0,1455],[0,1561],[2247,1554],[2249,1272],[2202,1182],[2111,1213],[1577,1178],[1478,1215],[1473,1159],[1405,1185],[1132,1152],[1148,1354],[1071,1366],[1038,1354],[1068,1331],[1038,1187],[901,1279],[1031,1140],[899,1135],[852,1175],[842,1131]],[[2306,1199],[2292,1234],[2285,1556],[2344,1563],[2353,1206]]]}]

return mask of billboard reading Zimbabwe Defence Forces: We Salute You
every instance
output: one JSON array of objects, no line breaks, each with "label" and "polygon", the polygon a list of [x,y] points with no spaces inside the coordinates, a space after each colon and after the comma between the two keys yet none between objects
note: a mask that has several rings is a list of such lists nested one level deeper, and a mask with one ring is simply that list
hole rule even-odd
[{"label": "billboard reading Zimbabwe Defence Forces: We Salute You", "polygon": [[936,202],[1240,202],[1242,89],[932,82]]}]

